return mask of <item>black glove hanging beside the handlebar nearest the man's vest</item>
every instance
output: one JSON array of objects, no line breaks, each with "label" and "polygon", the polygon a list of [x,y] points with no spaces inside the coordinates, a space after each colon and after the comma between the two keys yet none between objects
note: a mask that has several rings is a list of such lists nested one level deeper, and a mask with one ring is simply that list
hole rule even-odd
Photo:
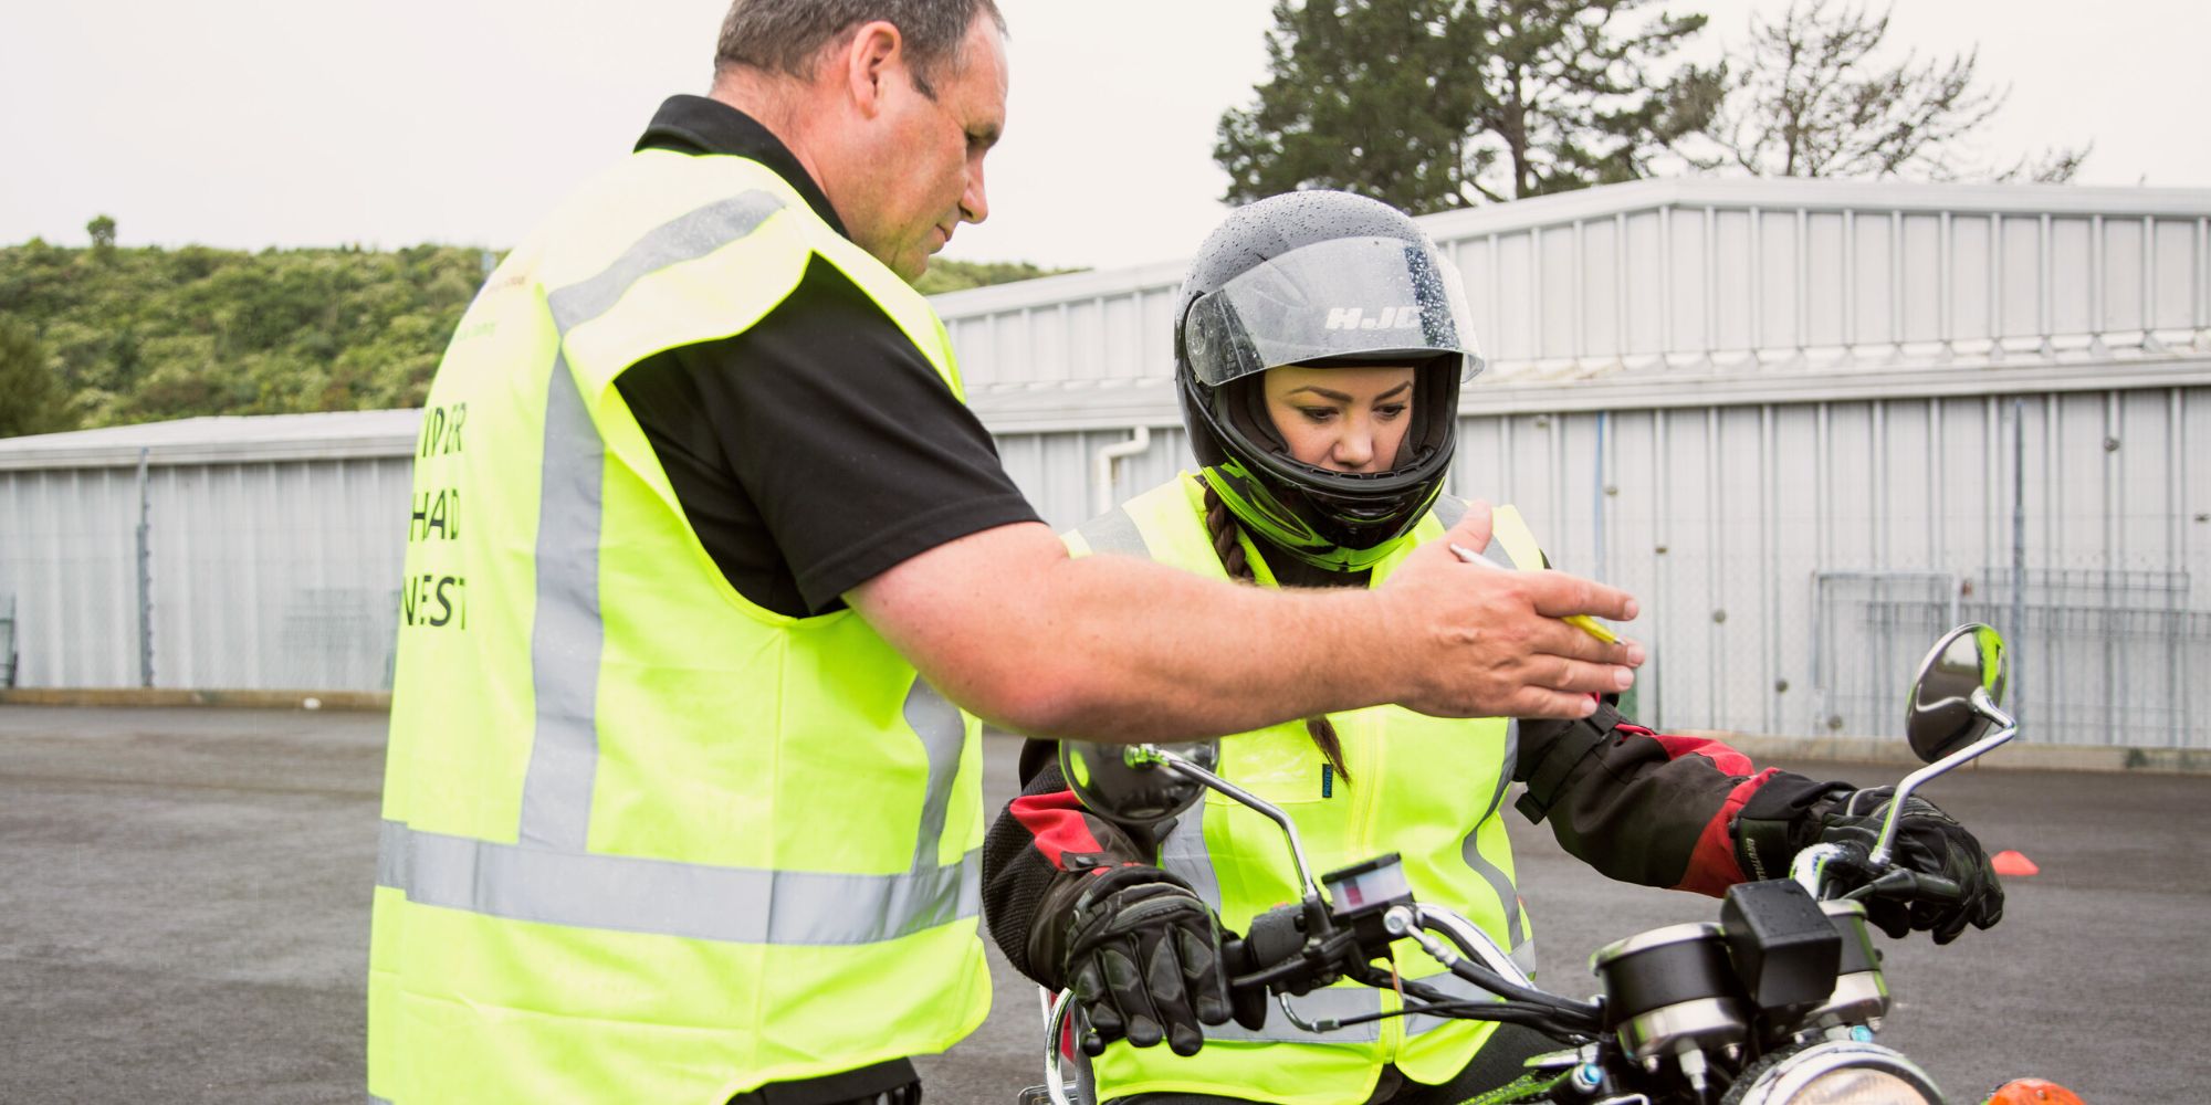
[{"label": "black glove hanging beside the handlebar nearest the man's vest", "polygon": [[1083,875],[1063,926],[1059,968],[1086,1054],[1117,1039],[1196,1054],[1201,1025],[1227,1023],[1220,926],[1187,882],[1148,864],[1099,869]]}]

